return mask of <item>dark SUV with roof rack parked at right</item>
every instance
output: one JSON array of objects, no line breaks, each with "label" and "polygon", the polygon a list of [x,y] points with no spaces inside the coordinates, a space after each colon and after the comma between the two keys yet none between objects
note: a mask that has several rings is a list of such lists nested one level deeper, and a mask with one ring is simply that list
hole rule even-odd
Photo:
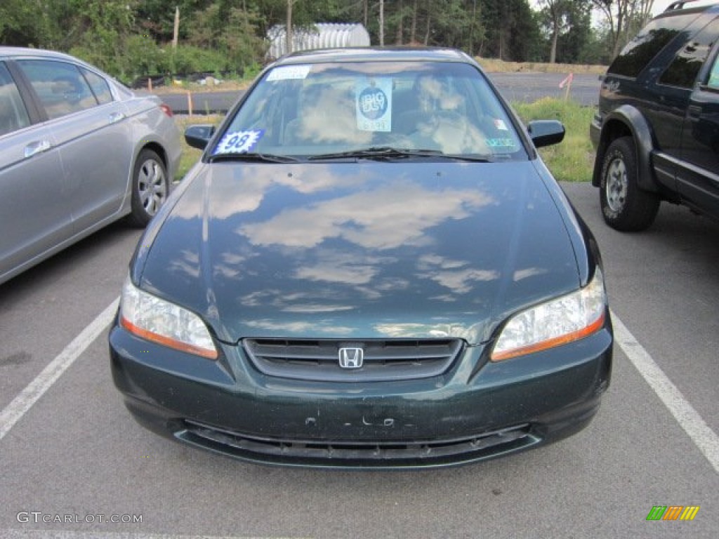
[{"label": "dark SUV with roof rack parked at right", "polygon": [[719,4],[674,2],[610,65],[590,126],[604,220],[649,227],[661,201],[719,218]]}]

